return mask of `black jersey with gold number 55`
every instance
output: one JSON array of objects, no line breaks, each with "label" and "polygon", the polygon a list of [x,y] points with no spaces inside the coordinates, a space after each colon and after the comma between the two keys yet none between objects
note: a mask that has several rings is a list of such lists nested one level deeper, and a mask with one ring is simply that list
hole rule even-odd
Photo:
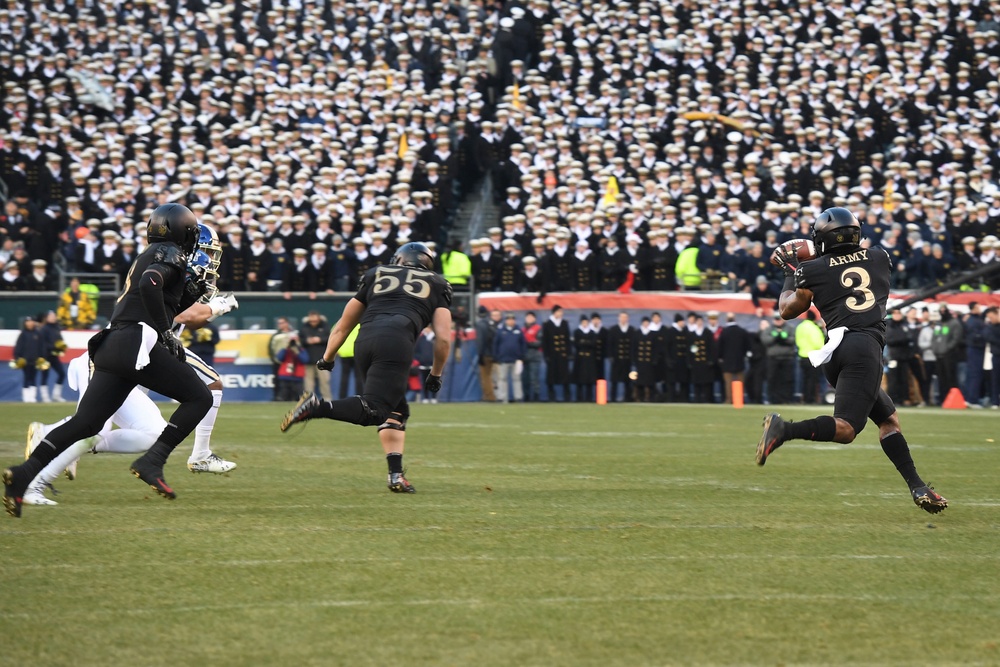
[{"label": "black jersey with gold number 55", "polygon": [[434,311],[451,306],[451,284],[427,269],[412,266],[377,266],[365,272],[354,298],[365,304],[365,326],[391,325],[404,317],[412,325],[414,340],[431,323]]}]

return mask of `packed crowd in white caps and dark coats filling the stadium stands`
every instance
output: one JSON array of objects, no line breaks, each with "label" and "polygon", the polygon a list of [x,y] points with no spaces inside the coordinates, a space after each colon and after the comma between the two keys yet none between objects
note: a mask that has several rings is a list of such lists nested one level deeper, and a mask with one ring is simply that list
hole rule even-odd
[{"label": "packed crowd in white caps and dark coats filling the stadium stands", "polygon": [[222,289],[350,289],[482,176],[459,285],[773,295],[833,205],[933,285],[997,258],[998,75],[987,0],[12,4],[0,287],[123,274],[178,201]]}]

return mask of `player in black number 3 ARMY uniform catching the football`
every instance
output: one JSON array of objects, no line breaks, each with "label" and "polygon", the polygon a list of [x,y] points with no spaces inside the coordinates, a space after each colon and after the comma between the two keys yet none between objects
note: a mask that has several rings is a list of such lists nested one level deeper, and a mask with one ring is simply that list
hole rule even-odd
[{"label": "player in black number 3 ARMY uniform catching the football", "polygon": [[913,502],[936,514],[948,501],[917,474],[896,407],[882,390],[885,306],[892,262],[880,247],[861,247],[861,223],[845,208],[820,213],[813,222],[812,238],[818,257],[797,269],[794,252],[779,251],[777,255],[785,273],[778,309],[790,320],[815,304],[826,321],[830,342],[814,363],[825,363],[826,378],[836,389],[834,413],[833,417],[800,422],[767,415],[757,444],[757,465],[764,465],[775,449],[796,438],[850,443],[871,419],[878,425],[882,450],[906,480]]}]

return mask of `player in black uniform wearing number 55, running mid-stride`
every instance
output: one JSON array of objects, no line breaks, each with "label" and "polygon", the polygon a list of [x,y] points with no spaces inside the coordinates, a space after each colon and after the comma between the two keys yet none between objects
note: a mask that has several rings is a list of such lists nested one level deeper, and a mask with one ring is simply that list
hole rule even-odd
[{"label": "player in black uniform wearing number 55, running mid-stride", "polygon": [[425,388],[441,390],[441,373],[451,350],[451,285],[432,270],[434,257],[422,243],[399,247],[387,266],[369,270],[358,293],[330,331],[326,352],[316,365],[333,368],[333,359],[355,325],[354,363],[361,372],[364,393],[337,401],[302,395],[281,422],[287,431],[295,423],[324,417],[361,426],[378,425],[379,441],[389,465],[389,490],[414,493],[403,473],[403,447],[410,409],[406,387],[417,336],[427,325],[434,330],[434,361]]}]

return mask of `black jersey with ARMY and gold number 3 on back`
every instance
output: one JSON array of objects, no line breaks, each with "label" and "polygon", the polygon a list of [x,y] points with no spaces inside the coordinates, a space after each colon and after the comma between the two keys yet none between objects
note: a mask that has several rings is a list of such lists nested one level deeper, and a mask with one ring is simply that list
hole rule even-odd
[{"label": "black jersey with ARMY and gold number 3 on back", "polygon": [[864,331],[885,345],[885,304],[892,260],[880,246],[823,255],[795,271],[795,287],[813,293],[826,328]]}]

